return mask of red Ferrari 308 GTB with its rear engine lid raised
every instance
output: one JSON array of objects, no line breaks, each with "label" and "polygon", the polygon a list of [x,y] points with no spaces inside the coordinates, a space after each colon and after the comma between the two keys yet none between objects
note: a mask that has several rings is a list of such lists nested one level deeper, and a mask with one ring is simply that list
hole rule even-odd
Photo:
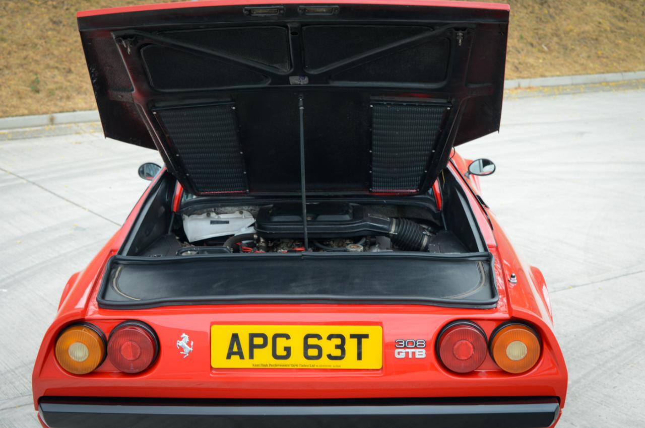
[{"label": "red Ferrari 308 GTB with its rear engine lid raised", "polygon": [[78,14],[105,135],[163,169],[64,287],[46,427],[553,427],[537,267],[484,203],[509,9],[218,0]]}]

